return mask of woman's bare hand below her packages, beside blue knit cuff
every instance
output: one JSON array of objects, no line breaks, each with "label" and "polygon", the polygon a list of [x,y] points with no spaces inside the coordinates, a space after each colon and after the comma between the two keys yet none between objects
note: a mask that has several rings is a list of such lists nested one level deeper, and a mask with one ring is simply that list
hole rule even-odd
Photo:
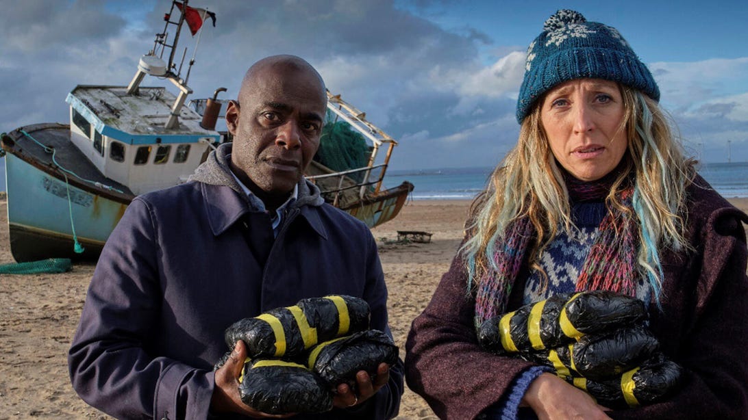
[{"label": "woman's bare hand below her packages, beside blue knit cuff", "polygon": [[521,405],[532,408],[539,420],[610,419],[605,414],[609,409],[595,403],[586,392],[549,373],[533,380]]}]

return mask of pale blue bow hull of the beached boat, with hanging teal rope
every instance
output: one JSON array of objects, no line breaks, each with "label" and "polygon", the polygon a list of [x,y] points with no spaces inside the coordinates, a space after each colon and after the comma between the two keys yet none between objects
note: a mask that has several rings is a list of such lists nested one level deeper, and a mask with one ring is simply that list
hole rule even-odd
[{"label": "pale blue bow hull of the beached boat, with hanging teal rope", "polygon": [[[3,135],[0,143],[13,259],[98,259],[132,193],[85,159],[70,141],[70,126],[27,126]],[[81,253],[76,252],[76,239]]]}]

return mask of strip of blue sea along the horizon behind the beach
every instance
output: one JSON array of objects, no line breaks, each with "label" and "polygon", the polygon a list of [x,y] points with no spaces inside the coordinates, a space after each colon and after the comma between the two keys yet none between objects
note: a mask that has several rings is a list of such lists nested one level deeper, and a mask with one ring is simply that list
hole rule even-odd
[{"label": "strip of blue sea along the horizon behind the beach", "polygon": [[[412,200],[472,200],[488,181],[491,167],[389,170],[385,187],[415,185]],[[748,162],[703,163],[699,173],[726,198],[748,198]],[[0,158],[0,191],[5,191],[5,159]]]}]

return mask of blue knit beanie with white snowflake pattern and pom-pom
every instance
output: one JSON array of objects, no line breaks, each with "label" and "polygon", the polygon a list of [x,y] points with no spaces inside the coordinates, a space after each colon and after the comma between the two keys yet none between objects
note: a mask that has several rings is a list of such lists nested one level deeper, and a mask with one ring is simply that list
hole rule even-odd
[{"label": "blue knit beanie with white snowflake pattern and pom-pom", "polygon": [[617,81],[660,100],[652,73],[616,28],[587,22],[574,10],[559,10],[545,21],[543,31],[527,48],[517,99],[518,123],[543,93],[575,78]]}]

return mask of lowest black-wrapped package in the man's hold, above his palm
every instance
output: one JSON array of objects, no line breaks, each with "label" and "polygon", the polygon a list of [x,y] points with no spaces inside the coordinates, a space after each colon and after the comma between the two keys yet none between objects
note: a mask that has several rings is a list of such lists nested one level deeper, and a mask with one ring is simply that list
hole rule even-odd
[{"label": "lowest black-wrapped package in the man's hold, above his palm", "polygon": [[247,359],[239,377],[242,402],[268,414],[332,410],[327,384],[307,366],[280,359]]}]

